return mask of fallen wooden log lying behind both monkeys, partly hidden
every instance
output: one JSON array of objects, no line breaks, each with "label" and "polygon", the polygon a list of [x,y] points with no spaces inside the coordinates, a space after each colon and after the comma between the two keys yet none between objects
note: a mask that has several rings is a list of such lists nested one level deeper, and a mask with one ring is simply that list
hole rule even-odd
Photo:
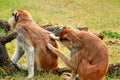
[{"label": "fallen wooden log lying behind both monkeys, partly hidden", "polygon": [[[54,33],[56,36],[59,35],[59,32],[66,28],[67,26],[53,26],[51,24],[48,24],[48,25],[39,25],[40,27],[42,27],[43,29],[46,29],[52,33]],[[0,20],[0,27],[3,28],[6,32],[8,32],[10,30],[10,26],[8,24],[8,22],[6,20]],[[88,28],[87,27],[78,27],[77,29],[79,30],[84,30],[84,31],[88,31]],[[96,34],[100,39],[103,40],[104,36],[100,35],[100,34]]]}]

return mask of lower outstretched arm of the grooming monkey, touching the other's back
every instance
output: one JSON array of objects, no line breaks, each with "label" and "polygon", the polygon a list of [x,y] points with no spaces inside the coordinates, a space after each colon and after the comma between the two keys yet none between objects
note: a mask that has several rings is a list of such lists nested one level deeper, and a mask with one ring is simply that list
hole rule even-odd
[{"label": "lower outstretched arm of the grooming monkey, touching the other's back", "polygon": [[61,51],[59,51],[57,48],[53,47],[51,44],[47,44],[47,47],[53,52],[55,53],[57,56],[59,56],[68,67],[70,67],[71,69],[74,69],[72,66],[71,61],[64,55],[64,53],[62,53]]}]

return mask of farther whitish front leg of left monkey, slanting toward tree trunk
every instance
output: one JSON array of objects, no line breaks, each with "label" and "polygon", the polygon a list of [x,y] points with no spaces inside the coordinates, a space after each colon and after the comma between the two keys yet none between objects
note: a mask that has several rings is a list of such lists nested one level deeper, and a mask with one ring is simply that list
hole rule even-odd
[{"label": "farther whitish front leg of left monkey, slanting toward tree trunk", "polygon": [[19,45],[19,43],[16,43],[16,50],[15,53],[12,57],[12,62],[16,63],[24,54],[24,50],[22,49],[22,47]]}]

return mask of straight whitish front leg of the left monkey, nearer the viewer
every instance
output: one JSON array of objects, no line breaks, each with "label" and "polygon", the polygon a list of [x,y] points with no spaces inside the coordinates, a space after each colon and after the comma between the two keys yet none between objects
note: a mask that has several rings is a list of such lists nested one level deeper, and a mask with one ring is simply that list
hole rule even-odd
[{"label": "straight whitish front leg of the left monkey, nearer the viewer", "polygon": [[26,50],[26,58],[28,64],[28,76],[26,78],[32,78],[34,76],[34,47],[29,46]]}]

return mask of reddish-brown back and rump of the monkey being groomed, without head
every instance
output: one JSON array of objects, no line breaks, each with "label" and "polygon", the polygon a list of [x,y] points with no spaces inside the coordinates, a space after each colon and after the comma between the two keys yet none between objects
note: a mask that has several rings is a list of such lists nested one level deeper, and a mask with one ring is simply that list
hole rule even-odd
[{"label": "reddish-brown back and rump of the monkey being groomed, without head", "polygon": [[57,42],[49,38],[51,32],[40,28],[35,23],[29,24],[29,22],[21,24],[18,30],[23,33],[23,36],[26,37],[35,48],[35,67],[37,69],[51,71],[58,68],[57,55],[46,47],[47,43],[51,43],[54,47],[58,48]]}]

